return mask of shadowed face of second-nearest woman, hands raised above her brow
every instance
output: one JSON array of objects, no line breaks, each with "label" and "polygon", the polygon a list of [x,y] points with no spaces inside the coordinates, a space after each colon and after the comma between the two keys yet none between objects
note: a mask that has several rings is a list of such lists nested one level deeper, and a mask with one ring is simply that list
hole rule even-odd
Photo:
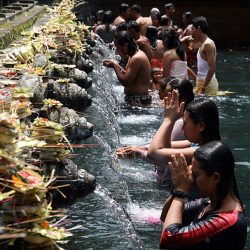
[{"label": "shadowed face of second-nearest woman, hands raised above her brow", "polygon": [[184,131],[184,135],[190,142],[202,142],[201,132],[204,130],[204,125],[200,122],[194,123],[193,120],[189,117],[189,113],[187,111],[184,112],[182,130]]}]

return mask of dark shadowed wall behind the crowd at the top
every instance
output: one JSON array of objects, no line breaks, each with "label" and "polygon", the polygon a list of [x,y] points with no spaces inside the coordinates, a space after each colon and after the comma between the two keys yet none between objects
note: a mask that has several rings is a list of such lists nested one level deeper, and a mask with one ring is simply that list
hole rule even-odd
[{"label": "dark shadowed wall behind the crowd at the top", "polygon": [[[119,5],[122,2],[128,4],[140,4],[143,15],[147,16],[152,7],[158,7],[163,12],[163,6],[168,1],[121,1],[121,0],[89,0],[92,11],[98,9],[112,10],[118,15]],[[203,15],[207,18],[210,31],[218,47],[247,47],[250,46],[250,1],[247,0],[173,0],[176,6],[175,23],[181,25],[181,16],[185,11],[191,11],[194,16]]]}]

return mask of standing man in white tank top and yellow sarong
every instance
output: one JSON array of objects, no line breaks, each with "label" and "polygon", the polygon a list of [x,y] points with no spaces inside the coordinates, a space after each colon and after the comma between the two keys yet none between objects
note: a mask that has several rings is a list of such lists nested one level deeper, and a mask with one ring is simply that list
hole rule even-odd
[{"label": "standing man in white tank top and yellow sarong", "polygon": [[192,21],[193,37],[201,43],[197,53],[197,94],[216,95],[218,81],[216,70],[216,47],[214,41],[207,35],[208,23],[205,17],[196,17]]}]

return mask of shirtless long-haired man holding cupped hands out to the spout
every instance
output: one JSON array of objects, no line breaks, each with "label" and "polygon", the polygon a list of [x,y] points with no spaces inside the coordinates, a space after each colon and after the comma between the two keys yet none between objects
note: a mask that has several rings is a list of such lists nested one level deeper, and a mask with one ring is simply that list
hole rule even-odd
[{"label": "shirtless long-haired man holding cupped hands out to the spout", "polygon": [[125,31],[115,37],[115,46],[121,57],[129,56],[125,69],[112,59],[103,64],[115,70],[117,78],[124,86],[125,101],[131,105],[147,105],[152,101],[148,93],[150,85],[150,64],[145,53],[138,49],[134,39]]}]

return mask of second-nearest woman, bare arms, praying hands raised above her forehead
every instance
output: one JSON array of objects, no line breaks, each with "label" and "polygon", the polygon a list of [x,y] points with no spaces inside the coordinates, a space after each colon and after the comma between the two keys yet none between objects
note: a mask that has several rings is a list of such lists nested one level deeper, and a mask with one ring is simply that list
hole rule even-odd
[{"label": "second-nearest woman, bare arms, praying hands raised above her forehead", "polygon": [[[172,154],[180,152],[191,163],[197,146],[221,139],[218,109],[212,100],[196,99],[187,105],[185,111],[184,103],[179,105],[176,91],[169,93],[164,100],[165,119],[150,143],[147,155],[149,159],[166,164],[171,160]],[[174,124],[182,116],[187,140],[171,141]]]}]

